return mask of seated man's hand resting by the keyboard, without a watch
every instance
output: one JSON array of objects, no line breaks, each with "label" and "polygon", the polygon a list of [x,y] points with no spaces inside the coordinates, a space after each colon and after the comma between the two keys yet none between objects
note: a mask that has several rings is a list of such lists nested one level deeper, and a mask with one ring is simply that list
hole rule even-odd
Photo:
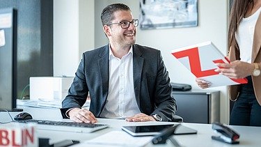
[{"label": "seated man's hand resting by the keyboard, without a watch", "polygon": [[97,118],[88,109],[71,109],[68,116],[70,116],[70,120],[77,123],[97,123]]}]

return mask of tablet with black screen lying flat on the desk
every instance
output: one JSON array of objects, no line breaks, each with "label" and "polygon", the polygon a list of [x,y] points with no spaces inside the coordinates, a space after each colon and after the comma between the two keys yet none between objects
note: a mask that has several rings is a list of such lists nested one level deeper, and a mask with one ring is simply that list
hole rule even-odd
[{"label": "tablet with black screen lying flat on the desk", "polygon": [[[167,127],[173,127],[173,125],[139,125],[139,126],[123,126],[122,130],[131,134],[134,137],[150,136],[159,134],[161,130]],[[180,125],[176,128],[174,134],[196,134],[197,130],[193,130],[190,127]]]}]

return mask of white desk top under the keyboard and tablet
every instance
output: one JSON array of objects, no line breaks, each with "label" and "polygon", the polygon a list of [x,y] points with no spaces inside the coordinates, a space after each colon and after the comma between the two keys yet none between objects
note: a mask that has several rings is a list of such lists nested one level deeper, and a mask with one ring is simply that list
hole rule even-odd
[{"label": "white desk top under the keyboard and tablet", "polygon": [[[68,121],[68,120],[63,120],[59,109],[40,109],[40,108],[32,108],[32,107],[22,107],[22,109],[24,109],[24,111],[29,112],[34,119],[45,119],[50,121]],[[11,116],[15,116],[16,114],[19,114],[19,112],[11,112],[10,114]],[[6,121],[8,120],[8,115],[1,112],[0,119],[1,121]],[[98,123],[108,124],[110,127],[92,133],[58,132],[58,131],[49,131],[49,130],[37,130],[37,133],[38,133],[38,137],[50,138],[50,144],[53,144],[56,141],[62,141],[64,139],[86,141],[88,139],[93,139],[95,137],[100,136],[101,134],[105,134],[106,132],[110,132],[112,130],[121,130],[120,127],[122,125],[173,124],[171,122],[134,123],[134,122],[127,122],[125,120],[105,119],[105,118],[98,118]],[[240,139],[239,139],[240,144],[231,145],[231,144],[226,144],[211,139],[211,136],[215,134],[214,131],[212,130],[211,124],[182,123],[182,125],[198,130],[198,134],[173,136],[182,146],[207,146],[207,147],[248,146],[249,147],[249,146],[260,146],[261,144],[260,143],[261,127],[230,126],[240,134]],[[148,146],[153,146],[153,145],[148,144]],[[154,145],[154,146],[173,146],[173,144],[171,144],[171,142],[168,141],[167,144]]]}]

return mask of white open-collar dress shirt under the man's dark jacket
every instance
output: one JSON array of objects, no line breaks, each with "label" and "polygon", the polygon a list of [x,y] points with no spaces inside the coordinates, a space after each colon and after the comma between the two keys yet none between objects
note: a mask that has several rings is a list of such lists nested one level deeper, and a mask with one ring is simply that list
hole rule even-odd
[{"label": "white open-collar dress shirt under the man's dark jacket", "polygon": [[122,59],[109,46],[109,91],[102,118],[126,118],[141,113],[136,102],[133,82],[132,47]]}]

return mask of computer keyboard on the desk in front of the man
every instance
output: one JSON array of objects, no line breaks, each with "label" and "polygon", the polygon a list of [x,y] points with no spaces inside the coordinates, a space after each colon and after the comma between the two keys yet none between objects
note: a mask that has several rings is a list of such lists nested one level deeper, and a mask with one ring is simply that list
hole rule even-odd
[{"label": "computer keyboard on the desk in front of the man", "polygon": [[22,120],[15,121],[18,123],[36,123],[36,126],[39,130],[56,130],[56,131],[65,131],[65,132],[94,132],[96,130],[102,130],[109,125],[103,124],[91,124],[91,123],[74,123],[74,122],[65,122],[65,121],[44,121],[44,120]]}]

